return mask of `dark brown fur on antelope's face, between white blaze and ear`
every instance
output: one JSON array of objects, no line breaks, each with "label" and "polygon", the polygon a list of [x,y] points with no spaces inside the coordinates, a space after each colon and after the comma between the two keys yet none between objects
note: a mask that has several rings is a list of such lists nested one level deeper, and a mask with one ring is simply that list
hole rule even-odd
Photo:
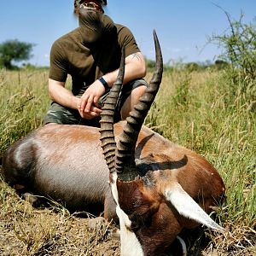
[{"label": "dark brown fur on antelope's face, between white blaze and ear", "polygon": [[175,209],[142,180],[118,183],[119,206],[131,220],[145,255],[161,255],[183,228]]}]

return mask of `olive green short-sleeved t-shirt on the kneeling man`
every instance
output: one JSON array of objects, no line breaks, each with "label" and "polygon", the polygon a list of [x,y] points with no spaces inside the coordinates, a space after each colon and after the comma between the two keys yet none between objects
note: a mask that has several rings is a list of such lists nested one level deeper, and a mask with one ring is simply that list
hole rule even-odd
[{"label": "olive green short-sleeved t-shirt on the kneeling man", "polygon": [[122,25],[114,24],[96,44],[85,45],[79,28],[57,39],[50,51],[49,79],[65,82],[67,74],[73,80],[73,95],[81,95],[96,79],[119,68],[121,48],[125,56],[137,53],[135,38]]}]

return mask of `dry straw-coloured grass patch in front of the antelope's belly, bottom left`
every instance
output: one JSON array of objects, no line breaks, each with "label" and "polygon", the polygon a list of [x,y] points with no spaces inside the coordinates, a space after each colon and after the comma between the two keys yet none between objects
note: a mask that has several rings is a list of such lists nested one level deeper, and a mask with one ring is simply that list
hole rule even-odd
[{"label": "dry straw-coloured grass patch in front of the antelope's belly, bottom left", "polygon": [[64,207],[36,209],[0,182],[0,255],[119,255],[119,241],[102,223],[79,218]]}]

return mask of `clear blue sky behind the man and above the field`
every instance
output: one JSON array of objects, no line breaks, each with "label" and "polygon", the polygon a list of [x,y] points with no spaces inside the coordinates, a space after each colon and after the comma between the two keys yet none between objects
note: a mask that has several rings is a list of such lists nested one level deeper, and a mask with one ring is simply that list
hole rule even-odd
[{"label": "clear blue sky behind the man and above the field", "polygon": [[[0,44],[9,39],[35,44],[29,61],[33,65],[49,66],[51,45],[78,26],[73,0],[0,1]],[[238,20],[242,12],[244,21],[252,22],[256,0],[108,0],[105,13],[131,29],[143,55],[151,60],[155,29],[168,63],[216,60],[221,49],[207,44],[207,38],[229,27],[223,9],[232,19]]]}]

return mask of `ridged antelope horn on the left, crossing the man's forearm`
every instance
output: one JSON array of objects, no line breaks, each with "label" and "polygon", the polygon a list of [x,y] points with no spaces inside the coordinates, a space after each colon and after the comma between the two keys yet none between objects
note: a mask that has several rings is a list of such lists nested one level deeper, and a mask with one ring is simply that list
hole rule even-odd
[{"label": "ridged antelope horn on the left, crossing the man's forearm", "polygon": [[123,85],[125,75],[125,47],[122,48],[122,56],[119,67],[119,75],[111,88],[101,113],[101,141],[104,159],[107,162],[108,170],[110,173],[115,172],[114,155],[116,150],[116,143],[113,134],[113,114],[116,103],[119,98],[119,91]]}]

